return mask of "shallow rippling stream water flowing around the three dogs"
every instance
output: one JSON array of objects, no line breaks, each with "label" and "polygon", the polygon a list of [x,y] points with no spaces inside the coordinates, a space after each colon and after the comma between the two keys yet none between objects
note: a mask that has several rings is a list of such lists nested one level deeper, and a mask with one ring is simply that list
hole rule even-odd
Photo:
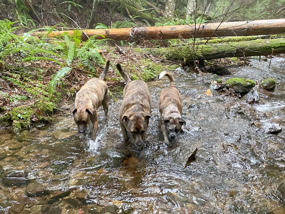
[{"label": "shallow rippling stream water flowing around the three dogs", "polygon": [[[207,96],[212,74],[173,72],[189,131],[171,148],[158,126],[166,77],[148,83],[153,120],[141,152],[123,141],[121,95],[109,101],[107,124],[100,108],[95,142],[91,129],[87,138],[77,133],[68,111],[34,132],[1,132],[0,151],[7,156],[0,174],[22,170],[25,179],[14,185],[2,179],[0,213],[285,213],[284,58],[272,59],[270,69],[268,62],[251,63],[220,78],[275,78],[277,88],[254,104]],[[277,123],[283,132],[268,134],[253,121]],[[184,168],[196,147],[196,160]]]}]

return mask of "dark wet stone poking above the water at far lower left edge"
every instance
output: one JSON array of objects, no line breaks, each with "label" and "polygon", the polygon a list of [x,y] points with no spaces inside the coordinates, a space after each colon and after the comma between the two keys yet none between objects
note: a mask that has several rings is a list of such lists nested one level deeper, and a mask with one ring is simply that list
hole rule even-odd
[{"label": "dark wet stone poking above the water at far lower left edge", "polygon": [[9,170],[3,173],[2,181],[5,185],[23,185],[27,180],[23,170]]}]

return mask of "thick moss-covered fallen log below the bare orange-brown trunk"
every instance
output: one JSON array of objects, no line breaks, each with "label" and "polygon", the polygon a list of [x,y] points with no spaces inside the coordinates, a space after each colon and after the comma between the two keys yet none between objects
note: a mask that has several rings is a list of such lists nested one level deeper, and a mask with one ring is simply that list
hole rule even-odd
[{"label": "thick moss-covered fallen log below the bare orange-brown trunk", "polygon": [[180,45],[169,48],[139,49],[145,53],[165,60],[182,60],[192,62],[193,60],[210,60],[234,56],[267,56],[285,53],[285,39],[257,39],[254,41],[233,42],[211,45],[199,45],[198,49],[193,46]]}]

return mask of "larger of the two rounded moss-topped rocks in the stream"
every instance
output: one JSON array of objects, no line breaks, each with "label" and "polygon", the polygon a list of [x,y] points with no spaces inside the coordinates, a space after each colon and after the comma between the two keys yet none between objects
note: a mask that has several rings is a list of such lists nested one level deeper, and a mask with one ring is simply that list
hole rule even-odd
[{"label": "larger of the two rounded moss-topped rocks in the stream", "polygon": [[225,82],[225,86],[232,88],[237,93],[246,93],[255,86],[255,82],[245,78],[231,78]]}]

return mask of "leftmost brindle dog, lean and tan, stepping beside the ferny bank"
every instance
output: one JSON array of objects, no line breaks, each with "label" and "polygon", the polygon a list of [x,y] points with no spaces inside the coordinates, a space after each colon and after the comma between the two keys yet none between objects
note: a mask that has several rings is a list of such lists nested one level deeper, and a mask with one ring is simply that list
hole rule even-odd
[{"label": "leftmost brindle dog, lean and tan, stepping beside the ferny bank", "polygon": [[88,80],[84,86],[82,86],[75,97],[75,108],[70,109],[70,112],[73,113],[74,121],[77,124],[79,133],[86,132],[87,124],[91,120],[93,123],[92,140],[95,140],[96,138],[98,127],[97,109],[101,105],[103,106],[105,118],[107,119],[109,110],[109,94],[108,86],[103,79],[108,72],[109,64],[110,60],[107,61],[106,67],[99,78],[92,78],[91,80]]}]

